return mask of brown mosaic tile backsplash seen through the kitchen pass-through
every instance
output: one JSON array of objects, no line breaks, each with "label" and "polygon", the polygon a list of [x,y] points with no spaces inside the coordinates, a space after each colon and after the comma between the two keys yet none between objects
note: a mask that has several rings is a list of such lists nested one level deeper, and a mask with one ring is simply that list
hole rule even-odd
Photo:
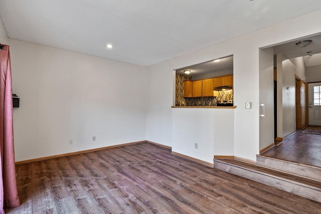
[{"label": "brown mosaic tile backsplash seen through the kitchen pass-through", "polygon": [[176,106],[216,106],[217,100],[233,99],[233,90],[217,91],[217,97],[187,97],[184,98],[185,80],[190,80],[191,77],[183,74],[176,74]]}]

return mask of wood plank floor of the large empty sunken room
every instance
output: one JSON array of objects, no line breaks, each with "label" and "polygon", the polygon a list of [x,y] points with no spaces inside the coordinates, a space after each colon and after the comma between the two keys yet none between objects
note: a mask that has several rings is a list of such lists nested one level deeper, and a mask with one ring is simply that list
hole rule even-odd
[{"label": "wood plank floor of the large empty sunken room", "polygon": [[6,213],[320,213],[321,203],[149,143],[17,165]]}]

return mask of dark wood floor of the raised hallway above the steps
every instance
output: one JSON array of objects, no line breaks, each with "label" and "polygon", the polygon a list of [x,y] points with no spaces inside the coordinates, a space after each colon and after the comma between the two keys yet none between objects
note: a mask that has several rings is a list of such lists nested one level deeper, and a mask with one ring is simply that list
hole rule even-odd
[{"label": "dark wood floor of the raised hallway above the steps", "polygon": [[321,135],[303,134],[298,130],[294,135],[262,155],[321,167]]}]

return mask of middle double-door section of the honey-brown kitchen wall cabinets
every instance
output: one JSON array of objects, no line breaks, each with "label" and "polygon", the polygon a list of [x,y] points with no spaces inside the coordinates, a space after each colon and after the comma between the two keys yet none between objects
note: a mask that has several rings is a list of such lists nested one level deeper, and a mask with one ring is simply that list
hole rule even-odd
[{"label": "middle double-door section of the honey-brown kitchen wall cabinets", "polygon": [[193,97],[213,96],[213,78],[193,81]]}]

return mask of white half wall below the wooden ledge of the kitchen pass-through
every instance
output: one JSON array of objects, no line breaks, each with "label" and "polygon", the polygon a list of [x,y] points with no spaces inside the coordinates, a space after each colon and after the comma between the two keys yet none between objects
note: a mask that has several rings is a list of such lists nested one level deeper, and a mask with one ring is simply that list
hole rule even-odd
[{"label": "white half wall below the wooden ledge of the kitchen pass-through", "polygon": [[233,124],[234,109],[174,108],[172,151],[208,163],[233,155]]}]

